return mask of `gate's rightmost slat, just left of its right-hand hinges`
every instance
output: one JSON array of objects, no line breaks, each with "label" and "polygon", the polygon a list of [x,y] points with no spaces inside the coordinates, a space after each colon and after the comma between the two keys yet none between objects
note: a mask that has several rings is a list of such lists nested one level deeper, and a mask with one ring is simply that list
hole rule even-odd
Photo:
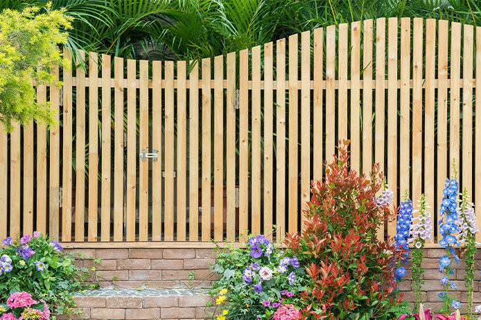
[{"label": "gate's rightmost slat, just left of its right-hand hinges", "polygon": [[[226,95],[226,178],[227,178],[227,241],[236,240],[236,53],[227,54]],[[192,143],[192,142],[191,142]]]}]

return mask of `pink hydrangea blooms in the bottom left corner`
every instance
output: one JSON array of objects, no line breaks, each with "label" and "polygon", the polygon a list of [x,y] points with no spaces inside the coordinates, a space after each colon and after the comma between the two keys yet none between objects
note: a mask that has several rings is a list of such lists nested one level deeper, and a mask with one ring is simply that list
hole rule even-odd
[{"label": "pink hydrangea blooms in the bottom left corner", "polygon": [[10,294],[6,303],[0,303],[1,320],[49,320],[50,310],[45,301],[35,301],[25,291]]}]

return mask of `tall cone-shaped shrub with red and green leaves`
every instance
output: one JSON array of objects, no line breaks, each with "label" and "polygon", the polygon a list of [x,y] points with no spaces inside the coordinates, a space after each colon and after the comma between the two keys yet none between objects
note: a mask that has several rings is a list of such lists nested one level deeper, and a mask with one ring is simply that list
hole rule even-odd
[{"label": "tall cone-shaped shrub with red and green leaves", "polygon": [[349,141],[326,164],[326,177],[312,183],[301,234],[288,234],[286,245],[311,279],[302,294],[301,319],[392,319],[401,303],[393,263],[402,252],[376,237],[395,210],[377,207],[383,175],[375,164],[369,179],[349,170]]}]

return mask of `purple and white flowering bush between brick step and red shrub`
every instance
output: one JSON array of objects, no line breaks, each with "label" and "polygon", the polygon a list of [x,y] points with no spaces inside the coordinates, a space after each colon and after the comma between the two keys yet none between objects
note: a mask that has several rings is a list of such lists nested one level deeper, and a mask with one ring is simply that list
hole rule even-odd
[{"label": "purple and white flowering bush between brick step and red shrub", "polygon": [[284,254],[263,235],[249,236],[245,247],[218,249],[211,268],[220,277],[211,290],[217,319],[297,319],[292,308],[305,290],[297,256]]}]

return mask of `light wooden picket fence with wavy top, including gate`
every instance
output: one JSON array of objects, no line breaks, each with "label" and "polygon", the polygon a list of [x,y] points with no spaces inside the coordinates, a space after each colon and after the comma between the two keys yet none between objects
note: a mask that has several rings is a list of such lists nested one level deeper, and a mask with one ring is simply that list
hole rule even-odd
[{"label": "light wooden picket fence with wavy top, including gate", "polygon": [[89,53],[85,64],[57,70],[61,89],[37,87],[62,126],[0,133],[0,238],[201,245],[248,229],[281,240],[344,139],[352,169],[379,162],[395,203],[424,193],[435,223],[451,160],[481,200],[479,27],[366,20],[201,62],[125,70]]}]

